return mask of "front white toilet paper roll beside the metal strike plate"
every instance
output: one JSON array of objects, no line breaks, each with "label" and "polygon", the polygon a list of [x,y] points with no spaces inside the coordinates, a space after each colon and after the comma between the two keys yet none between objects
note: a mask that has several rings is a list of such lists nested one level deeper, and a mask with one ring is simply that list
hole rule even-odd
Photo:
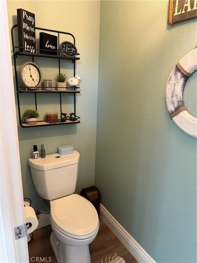
[{"label": "front white toilet paper roll beside the metal strike plate", "polygon": [[26,226],[27,226],[27,234],[30,234],[37,228],[38,219],[32,207],[25,206],[24,210],[25,210],[25,221],[26,221]]}]

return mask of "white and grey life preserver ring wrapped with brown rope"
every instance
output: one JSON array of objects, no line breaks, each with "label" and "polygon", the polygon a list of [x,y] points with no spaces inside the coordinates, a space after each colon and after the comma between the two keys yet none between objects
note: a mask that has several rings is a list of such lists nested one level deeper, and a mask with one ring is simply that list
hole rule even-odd
[{"label": "white and grey life preserver ring wrapped with brown rope", "polygon": [[183,89],[189,76],[197,69],[197,48],[176,64],[166,85],[166,103],[171,119],[190,136],[197,138],[197,118],[183,104]]}]

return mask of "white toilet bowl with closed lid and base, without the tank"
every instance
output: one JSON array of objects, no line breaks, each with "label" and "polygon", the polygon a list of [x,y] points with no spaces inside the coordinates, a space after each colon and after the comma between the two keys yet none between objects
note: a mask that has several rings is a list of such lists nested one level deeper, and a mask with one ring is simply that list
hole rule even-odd
[{"label": "white toilet bowl with closed lid and base, without the tank", "polygon": [[50,205],[50,243],[58,262],[90,263],[89,244],[99,229],[94,206],[77,194],[52,200]]}]

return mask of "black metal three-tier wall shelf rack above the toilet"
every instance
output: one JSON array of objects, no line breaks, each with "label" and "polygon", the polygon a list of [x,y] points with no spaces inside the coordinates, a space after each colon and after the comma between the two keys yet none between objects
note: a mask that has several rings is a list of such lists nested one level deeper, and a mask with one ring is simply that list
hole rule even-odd
[{"label": "black metal three-tier wall shelf rack above the toilet", "polygon": [[[36,53],[30,53],[30,52],[22,52],[22,51],[18,51],[19,48],[23,48],[23,50],[25,50],[24,47],[18,47],[15,46],[14,43],[14,30],[18,28],[18,25],[14,25],[11,29],[11,36],[12,36],[12,48],[13,48],[13,54],[14,54],[14,70],[15,70],[15,77],[16,77],[16,87],[17,87],[17,99],[18,99],[18,112],[19,112],[19,121],[20,121],[20,125],[23,128],[30,128],[30,127],[38,127],[38,126],[51,126],[51,125],[65,125],[65,124],[74,124],[74,123],[80,123],[80,121],[78,119],[80,119],[80,117],[76,116],[76,98],[75,98],[75,94],[76,93],[80,93],[80,91],[77,90],[73,90],[72,88],[70,88],[70,90],[66,90],[66,91],[58,91],[55,90],[54,88],[56,87],[52,87],[53,89],[51,91],[47,91],[44,90],[44,87],[38,87],[38,89],[34,89],[34,90],[30,90],[26,87],[21,87],[18,85],[18,79],[17,79],[17,66],[16,66],[16,59],[17,56],[30,56],[32,59],[32,62],[34,62],[34,57],[43,57],[43,58],[54,58],[54,59],[58,59],[59,60],[59,73],[60,73],[60,60],[71,60],[72,63],[74,64],[74,76],[75,76],[75,61],[76,60],[80,60],[80,58],[78,57],[69,57],[69,56],[65,56],[62,54],[62,51],[58,50],[58,55],[51,55],[51,54],[40,54],[37,53],[38,51],[40,52],[41,49],[36,49]],[[57,33],[58,35],[58,47],[59,47],[59,39],[60,39],[60,34],[64,34],[64,35],[70,35],[73,37],[73,42],[75,45],[75,38],[74,35],[67,33],[67,32],[62,32],[62,31],[55,31],[55,30],[50,30],[50,29],[45,29],[45,28],[40,28],[40,27],[35,27],[36,30],[38,31],[48,31],[48,32],[53,32],[53,33]],[[17,34],[16,34],[17,35]],[[77,53],[76,55],[80,55],[79,53]],[[61,119],[58,119],[57,123],[47,123],[45,120],[42,121],[38,121],[36,124],[34,125],[30,125],[27,124],[26,122],[21,120],[21,112],[20,112],[20,102],[19,102],[19,94],[22,93],[34,93],[34,98],[35,98],[35,109],[37,110],[37,94],[39,93],[59,93],[59,97],[60,97],[60,115],[62,113],[62,94],[73,94],[74,96],[74,118],[76,119],[75,121],[70,121],[70,120],[66,120],[66,122],[61,122]]]}]

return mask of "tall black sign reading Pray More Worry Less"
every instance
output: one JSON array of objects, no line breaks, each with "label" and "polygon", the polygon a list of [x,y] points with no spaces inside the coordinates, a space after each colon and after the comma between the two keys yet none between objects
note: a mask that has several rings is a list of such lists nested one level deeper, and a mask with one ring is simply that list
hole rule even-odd
[{"label": "tall black sign reading Pray More Worry Less", "polygon": [[35,14],[17,9],[19,51],[36,53]]}]

